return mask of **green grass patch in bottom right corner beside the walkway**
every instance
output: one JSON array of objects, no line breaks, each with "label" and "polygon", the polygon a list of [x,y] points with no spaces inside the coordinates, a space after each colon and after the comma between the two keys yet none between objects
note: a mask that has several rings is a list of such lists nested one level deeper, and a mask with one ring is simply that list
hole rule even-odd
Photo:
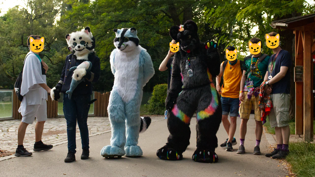
[{"label": "green grass patch in bottom right corner beside the walkway", "polygon": [[307,142],[289,143],[290,153],[286,160],[292,165],[297,177],[315,176],[315,144]]}]

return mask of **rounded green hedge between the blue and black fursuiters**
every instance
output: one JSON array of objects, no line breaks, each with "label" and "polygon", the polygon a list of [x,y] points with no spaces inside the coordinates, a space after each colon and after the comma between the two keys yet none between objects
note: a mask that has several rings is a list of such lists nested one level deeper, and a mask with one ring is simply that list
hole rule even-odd
[{"label": "rounded green hedge between the blue and black fursuiters", "polygon": [[148,101],[150,114],[164,114],[166,95],[167,84],[159,84],[154,86],[152,97]]}]

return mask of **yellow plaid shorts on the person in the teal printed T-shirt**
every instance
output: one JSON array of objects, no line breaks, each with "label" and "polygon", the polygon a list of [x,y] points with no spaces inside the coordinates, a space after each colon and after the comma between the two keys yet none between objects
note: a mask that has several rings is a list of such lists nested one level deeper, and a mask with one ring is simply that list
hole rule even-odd
[{"label": "yellow plaid shorts on the person in the teal printed T-shirt", "polygon": [[[239,106],[239,115],[242,119],[249,119],[250,111],[253,109],[255,111],[255,120],[261,121],[261,111],[259,110],[259,95],[255,97],[252,96],[251,99],[247,98],[247,92],[244,92],[245,99],[241,102]],[[252,107],[254,106],[254,107]]]}]

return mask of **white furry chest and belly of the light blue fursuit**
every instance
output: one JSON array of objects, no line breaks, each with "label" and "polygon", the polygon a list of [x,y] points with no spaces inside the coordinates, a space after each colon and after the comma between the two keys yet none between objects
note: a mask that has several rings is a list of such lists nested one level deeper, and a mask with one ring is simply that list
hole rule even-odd
[{"label": "white furry chest and belly of the light blue fursuit", "polygon": [[117,51],[115,54],[115,80],[113,88],[124,102],[129,102],[136,93],[139,77],[140,50],[123,53]]}]

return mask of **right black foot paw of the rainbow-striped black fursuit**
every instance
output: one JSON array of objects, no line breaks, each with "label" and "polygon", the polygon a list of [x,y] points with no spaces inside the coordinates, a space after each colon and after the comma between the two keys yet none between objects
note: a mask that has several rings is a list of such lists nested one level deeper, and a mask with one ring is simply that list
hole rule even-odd
[{"label": "right black foot paw of the rainbow-striped black fursuit", "polygon": [[216,163],[218,162],[218,155],[209,149],[197,148],[192,155],[192,160],[196,162]]}]

